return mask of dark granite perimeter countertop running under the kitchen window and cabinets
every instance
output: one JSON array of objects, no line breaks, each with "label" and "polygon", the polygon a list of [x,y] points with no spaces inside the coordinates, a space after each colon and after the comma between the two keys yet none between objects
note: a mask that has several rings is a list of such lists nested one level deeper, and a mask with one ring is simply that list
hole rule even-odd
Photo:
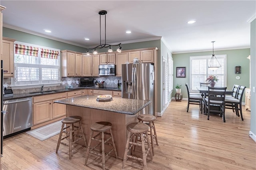
[{"label": "dark granite perimeter countertop running under the kitchen window and cabinets", "polygon": [[52,92],[48,93],[21,93],[21,94],[14,94],[13,96],[6,96],[3,98],[3,100],[12,100],[12,99],[20,99],[20,98],[25,98],[25,97],[35,97],[35,96],[40,96],[40,95],[50,95],[54,93],[62,93],[62,92],[67,92],[67,91],[73,91],[73,90],[82,90],[82,89],[99,89],[99,90],[111,90],[111,91],[122,91],[122,89],[114,88],[114,87],[105,87],[105,88],[98,88],[98,87],[74,87],[70,89],[56,89],[53,90]]}]

